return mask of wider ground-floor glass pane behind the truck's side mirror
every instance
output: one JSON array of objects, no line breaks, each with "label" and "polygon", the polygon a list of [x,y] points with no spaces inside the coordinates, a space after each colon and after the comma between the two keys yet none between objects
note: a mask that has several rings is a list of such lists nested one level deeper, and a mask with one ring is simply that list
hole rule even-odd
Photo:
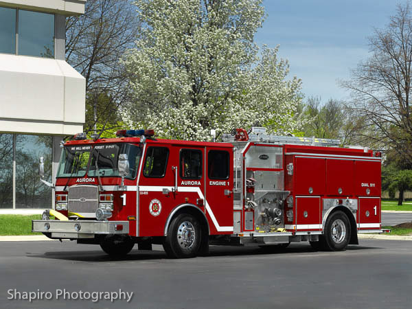
[{"label": "wider ground-floor glass pane behind the truck's side mirror", "polygon": [[45,159],[45,180],[52,182],[52,137],[16,135],[16,208],[49,208],[52,189],[38,176],[38,158]]}]

